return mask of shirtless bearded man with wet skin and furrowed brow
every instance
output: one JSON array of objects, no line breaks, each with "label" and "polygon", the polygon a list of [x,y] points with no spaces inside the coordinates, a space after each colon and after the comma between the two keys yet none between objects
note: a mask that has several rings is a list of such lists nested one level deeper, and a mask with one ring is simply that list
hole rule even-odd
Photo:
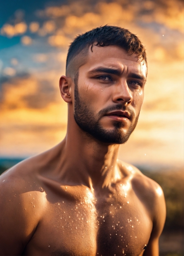
[{"label": "shirtless bearded man with wet skin and furrowed brow", "polygon": [[74,40],[60,78],[65,139],[0,177],[1,255],[159,254],[163,192],[117,160],[146,75],[145,49],[126,29],[104,26]]}]

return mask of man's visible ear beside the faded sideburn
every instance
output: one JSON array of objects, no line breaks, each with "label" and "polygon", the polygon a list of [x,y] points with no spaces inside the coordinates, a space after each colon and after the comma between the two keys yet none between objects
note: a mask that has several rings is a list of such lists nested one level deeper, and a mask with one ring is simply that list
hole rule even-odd
[{"label": "man's visible ear beside the faded sideburn", "polygon": [[72,102],[72,97],[70,94],[70,86],[72,84],[72,79],[70,77],[61,76],[59,80],[59,88],[61,92],[61,97],[65,102]]}]

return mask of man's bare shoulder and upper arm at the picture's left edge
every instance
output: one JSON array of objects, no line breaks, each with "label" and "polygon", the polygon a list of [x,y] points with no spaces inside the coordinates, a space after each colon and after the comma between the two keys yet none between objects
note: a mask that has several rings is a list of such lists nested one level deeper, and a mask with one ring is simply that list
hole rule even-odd
[{"label": "man's bare shoulder and upper arm at the picture's left edge", "polygon": [[0,176],[1,255],[10,255],[9,250],[11,255],[20,255],[42,218],[46,204],[36,165],[37,157],[32,157]]}]

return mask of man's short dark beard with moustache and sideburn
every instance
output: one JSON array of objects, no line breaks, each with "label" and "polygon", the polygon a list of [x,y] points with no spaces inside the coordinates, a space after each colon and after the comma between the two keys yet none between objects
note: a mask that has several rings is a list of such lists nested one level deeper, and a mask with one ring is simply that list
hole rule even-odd
[{"label": "man's short dark beard with moustache and sideburn", "polygon": [[[102,109],[98,114],[94,114],[94,109],[89,107],[80,97],[77,85],[78,76],[74,79],[75,90],[74,90],[74,119],[77,125],[88,135],[93,136],[95,139],[109,144],[123,144],[125,143],[133,130],[137,125],[139,114],[135,117],[135,113],[122,104],[116,104]],[[123,131],[123,122],[113,121],[113,130],[104,129],[100,124],[100,117],[102,114],[122,110],[130,113],[130,120],[134,120],[131,123],[127,132]]]}]

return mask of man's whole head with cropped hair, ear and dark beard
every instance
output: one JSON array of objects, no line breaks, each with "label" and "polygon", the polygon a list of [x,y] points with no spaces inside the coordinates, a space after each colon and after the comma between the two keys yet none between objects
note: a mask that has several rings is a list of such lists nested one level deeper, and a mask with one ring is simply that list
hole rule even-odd
[{"label": "man's whole head with cropped hair, ear and dark beard", "polygon": [[146,74],[144,46],[128,30],[104,26],[78,36],[60,80],[69,118],[99,141],[125,143],[138,121]]}]

